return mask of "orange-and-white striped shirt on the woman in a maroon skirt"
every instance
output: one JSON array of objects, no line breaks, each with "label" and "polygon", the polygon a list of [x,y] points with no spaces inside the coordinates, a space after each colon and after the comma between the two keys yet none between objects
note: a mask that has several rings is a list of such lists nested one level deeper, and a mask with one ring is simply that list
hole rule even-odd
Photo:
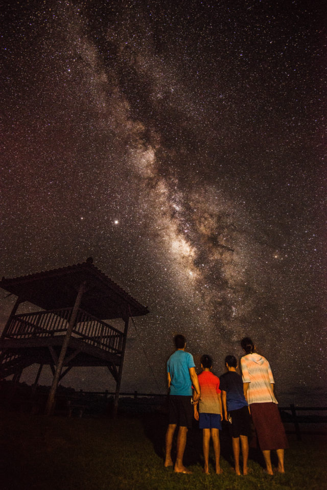
[{"label": "orange-and-white striped shirt on the woman in a maroon skirt", "polygon": [[247,402],[277,403],[270,383],[274,383],[267,359],[259,354],[247,354],[241,358],[243,383],[249,383]]}]

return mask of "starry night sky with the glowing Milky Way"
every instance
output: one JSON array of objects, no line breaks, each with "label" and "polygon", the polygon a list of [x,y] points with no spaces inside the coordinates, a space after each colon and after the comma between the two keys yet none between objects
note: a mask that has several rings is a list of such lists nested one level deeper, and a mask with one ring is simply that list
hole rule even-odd
[{"label": "starry night sky with the glowing Milky Way", "polygon": [[[321,400],[317,4],[5,2],[0,276],[92,256],[147,306],[130,324],[122,389],[166,392],[176,333],[217,375],[249,335],[282,401]],[[13,300],[1,301],[2,325]],[[62,384],[110,390],[101,369]]]}]

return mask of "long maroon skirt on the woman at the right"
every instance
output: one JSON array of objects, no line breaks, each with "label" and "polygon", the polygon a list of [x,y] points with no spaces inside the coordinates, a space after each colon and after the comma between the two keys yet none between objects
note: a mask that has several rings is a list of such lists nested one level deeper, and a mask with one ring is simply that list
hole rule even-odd
[{"label": "long maroon skirt on the woman at the right", "polygon": [[287,449],[288,442],[277,404],[251,403],[250,410],[260,449]]}]

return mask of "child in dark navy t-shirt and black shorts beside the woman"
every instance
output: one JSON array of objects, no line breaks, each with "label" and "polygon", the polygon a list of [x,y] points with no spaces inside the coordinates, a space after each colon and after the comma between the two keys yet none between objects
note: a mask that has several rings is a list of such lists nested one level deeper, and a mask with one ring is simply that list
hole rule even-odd
[{"label": "child in dark navy t-shirt and black shorts beside the woman", "polygon": [[240,475],[240,439],[243,456],[243,475],[247,475],[249,454],[248,437],[251,435],[249,407],[245,400],[242,376],[236,372],[237,360],[234,356],[225,359],[227,372],[220,377],[221,399],[225,421],[230,422],[235,472]]}]

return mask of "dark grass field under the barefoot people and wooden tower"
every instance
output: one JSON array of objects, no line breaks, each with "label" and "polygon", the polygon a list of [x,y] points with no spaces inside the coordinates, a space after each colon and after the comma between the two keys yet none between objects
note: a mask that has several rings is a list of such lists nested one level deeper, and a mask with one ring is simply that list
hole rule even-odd
[{"label": "dark grass field under the barefoot people and wooden tower", "polygon": [[0,411],[2,490],[321,490],[327,488],[322,436],[289,436],[286,474],[263,473],[260,453],[250,456],[250,475],[233,474],[229,438],[222,434],[223,475],[202,472],[201,433],[189,432],[184,462],[192,475],[163,465],[165,416],[45,417]]}]

